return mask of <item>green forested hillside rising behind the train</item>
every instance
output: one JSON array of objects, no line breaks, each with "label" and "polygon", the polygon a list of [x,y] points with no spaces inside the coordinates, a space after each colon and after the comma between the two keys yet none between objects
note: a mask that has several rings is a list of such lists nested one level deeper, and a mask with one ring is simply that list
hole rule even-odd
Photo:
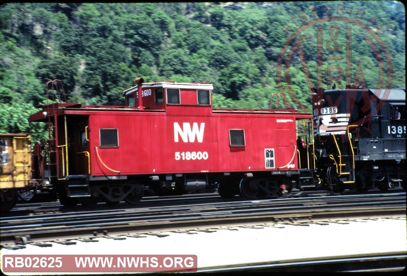
[{"label": "green forested hillside rising behind the train", "polygon": [[[0,132],[28,131],[27,115],[44,103],[45,84],[53,79],[63,81],[69,101],[89,105],[122,105],[123,89],[143,77],[146,82],[211,81],[214,107],[267,109],[278,91],[276,65],[288,38],[286,24],[294,29],[305,15],[308,20],[326,16],[318,9],[323,5],[332,15],[356,18],[373,29],[383,26],[380,38],[392,57],[392,85],[405,86],[400,2],[3,4]],[[324,30],[324,45],[329,31]],[[375,85],[377,56],[357,31],[352,56],[361,60],[366,84]],[[312,35],[308,39],[316,41]],[[343,29],[337,43],[344,40]],[[316,70],[313,45],[304,49],[311,73]],[[293,60],[290,81],[298,98],[290,95],[289,102],[307,109],[307,82],[300,59]]]}]

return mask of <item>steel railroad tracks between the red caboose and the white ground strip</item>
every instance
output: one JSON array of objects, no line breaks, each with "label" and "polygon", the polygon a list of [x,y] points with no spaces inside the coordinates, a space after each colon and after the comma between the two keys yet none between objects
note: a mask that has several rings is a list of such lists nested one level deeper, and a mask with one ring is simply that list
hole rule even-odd
[{"label": "steel railroad tracks between the red caboose and the white ground strip", "polygon": [[403,215],[406,210],[405,192],[173,203],[146,207],[144,202],[137,208],[123,205],[108,210],[65,208],[58,212],[3,217],[1,244],[214,225],[393,216]]}]

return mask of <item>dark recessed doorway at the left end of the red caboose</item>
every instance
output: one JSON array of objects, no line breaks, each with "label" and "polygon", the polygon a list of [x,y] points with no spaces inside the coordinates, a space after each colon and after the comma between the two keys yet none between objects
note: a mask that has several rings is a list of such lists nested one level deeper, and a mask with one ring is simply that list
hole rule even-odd
[{"label": "dark recessed doorway at the left end of the red caboose", "polygon": [[69,142],[69,174],[89,175],[89,116],[72,115],[68,122],[68,142]]}]

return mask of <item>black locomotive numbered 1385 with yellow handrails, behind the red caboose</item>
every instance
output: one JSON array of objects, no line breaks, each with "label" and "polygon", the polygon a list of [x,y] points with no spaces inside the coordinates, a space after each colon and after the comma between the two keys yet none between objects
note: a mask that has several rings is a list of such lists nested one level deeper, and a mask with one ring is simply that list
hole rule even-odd
[{"label": "black locomotive numbered 1385 with yellow handrails, behind the red caboose", "polygon": [[317,177],[328,189],[405,189],[405,89],[314,88]]}]

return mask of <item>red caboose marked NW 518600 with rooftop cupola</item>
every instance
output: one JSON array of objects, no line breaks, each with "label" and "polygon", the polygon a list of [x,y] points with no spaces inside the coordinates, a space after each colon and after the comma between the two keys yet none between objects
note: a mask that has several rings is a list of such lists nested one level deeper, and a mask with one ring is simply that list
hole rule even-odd
[{"label": "red caboose marked NW 518600 with rooftop cupola", "polygon": [[296,121],[310,114],[213,109],[211,83],[136,83],[124,91],[125,106],[60,102],[30,116],[49,123],[44,171],[63,204],[137,203],[145,188],[165,195],[219,187],[226,198],[301,185],[306,149]]}]

